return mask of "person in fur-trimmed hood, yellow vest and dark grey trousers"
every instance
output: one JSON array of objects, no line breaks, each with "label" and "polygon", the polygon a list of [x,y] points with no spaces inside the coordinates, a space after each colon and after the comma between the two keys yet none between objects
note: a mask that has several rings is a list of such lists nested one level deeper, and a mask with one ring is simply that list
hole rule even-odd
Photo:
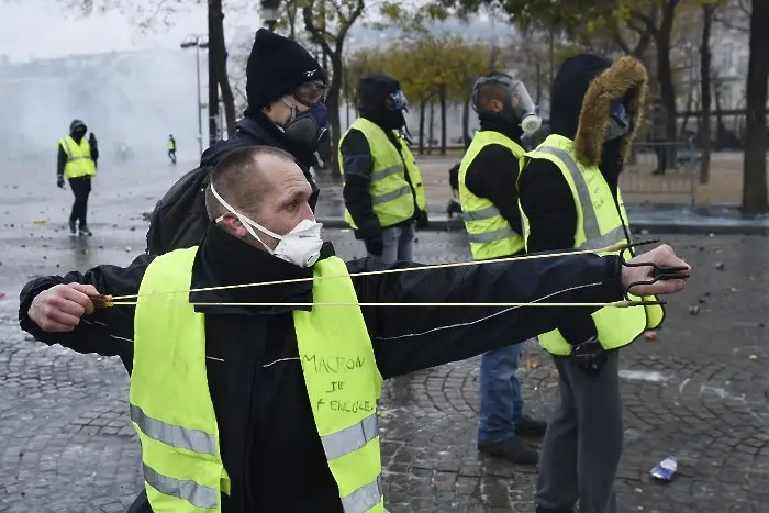
[{"label": "person in fur-trimmed hood, yellow vest and dark grey trousers", "polygon": [[[620,172],[644,110],[647,74],[633,57],[567,59],[553,85],[550,135],[521,160],[528,252],[600,249],[631,239]],[[539,460],[538,512],[614,513],[622,454],[618,352],[662,321],[661,306],[575,309],[539,335],[560,375]]]}]

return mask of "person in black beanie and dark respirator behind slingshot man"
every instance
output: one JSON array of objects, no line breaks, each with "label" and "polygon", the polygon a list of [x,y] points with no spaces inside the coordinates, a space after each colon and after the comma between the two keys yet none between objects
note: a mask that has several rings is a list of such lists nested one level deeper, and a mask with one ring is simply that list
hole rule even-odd
[{"label": "person in black beanie and dark respirator behind slingshot man", "polygon": [[287,150],[313,188],[310,168],[319,166],[317,147],[327,134],[327,77],[321,65],[296,41],[266,29],[256,33],[246,64],[248,108],[237,132],[209,147],[200,167],[181,177],[157,203],[147,232],[147,253],[161,255],[200,242],[209,220],[203,190],[219,160],[235,148],[266,145]]}]

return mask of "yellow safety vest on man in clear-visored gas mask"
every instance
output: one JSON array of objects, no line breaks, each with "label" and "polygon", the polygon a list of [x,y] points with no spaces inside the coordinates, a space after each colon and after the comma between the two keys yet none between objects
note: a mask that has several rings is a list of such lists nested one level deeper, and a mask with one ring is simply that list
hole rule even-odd
[{"label": "yellow safety vest on man in clear-visored gas mask", "polygon": [[[506,257],[524,249],[523,237],[513,231],[491,200],[477,197],[465,185],[465,176],[472,160],[483,147],[490,144],[499,144],[509,148],[516,159],[525,153],[510,137],[505,137],[499,132],[483,130],[476,132],[470,147],[467,148],[467,153],[461,159],[459,202],[465,215],[465,230],[467,230],[470,239],[470,250],[476,260]],[[500,169],[499,172],[512,172],[512,170]],[[516,191],[510,191],[510,193],[515,194]]]}]

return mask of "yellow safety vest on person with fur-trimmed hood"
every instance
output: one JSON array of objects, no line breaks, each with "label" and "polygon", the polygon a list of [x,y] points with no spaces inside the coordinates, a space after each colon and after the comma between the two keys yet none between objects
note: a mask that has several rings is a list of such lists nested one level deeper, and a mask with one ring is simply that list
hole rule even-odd
[{"label": "yellow safety vest on person with fur-trimmed hood", "polygon": [[[622,194],[617,190],[615,203],[612,191],[598,166],[587,167],[575,158],[572,141],[560,135],[549,135],[542,145],[521,158],[521,174],[526,169],[527,159],[532,158],[550,160],[558,166],[569,183],[577,205],[575,248],[600,249],[612,244],[629,242],[627,212],[625,212]],[[521,218],[524,238],[528,244],[528,219],[523,209],[521,209]],[[624,309],[610,306],[597,311],[592,317],[601,346],[605,349],[615,349],[633,343],[645,330],[659,327],[665,319],[665,309],[659,305]],[[571,353],[571,345],[558,330],[539,335],[539,344],[554,355]]]}]

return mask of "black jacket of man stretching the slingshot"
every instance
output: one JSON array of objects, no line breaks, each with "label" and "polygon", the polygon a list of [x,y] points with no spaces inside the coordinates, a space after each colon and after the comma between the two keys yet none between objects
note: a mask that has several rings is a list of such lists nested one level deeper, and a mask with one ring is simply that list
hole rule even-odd
[{"label": "black jacket of man stretching the slingshot", "polygon": [[[333,254],[327,244],[323,257]],[[130,359],[131,306],[97,310],[71,333],[42,332],[26,315],[33,298],[63,282],[92,283],[113,295],[136,294],[152,256],[129,267],[99,266],[27,283],[21,327],[36,339],[79,353]],[[406,267],[400,263],[388,267]],[[376,259],[347,264],[350,272],[384,268]],[[192,269],[192,288],[311,276],[211,226]],[[618,259],[579,255],[520,263],[441,268],[353,278],[360,302],[604,302],[621,299]],[[593,287],[576,288],[594,283]],[[311,302],[308,282],[190,294],[207,302]],[[205,312],[208,380],[232,479],[225,513],[337,513],[337,487],[326,465],[298,361],[290,308],[197,308]],[[361,308],[383,378],[461,360],[554,328],[569,308]],[[472,322],[484,319],[483,322]],[[145,505],[133,511],[147,512]]]}]

